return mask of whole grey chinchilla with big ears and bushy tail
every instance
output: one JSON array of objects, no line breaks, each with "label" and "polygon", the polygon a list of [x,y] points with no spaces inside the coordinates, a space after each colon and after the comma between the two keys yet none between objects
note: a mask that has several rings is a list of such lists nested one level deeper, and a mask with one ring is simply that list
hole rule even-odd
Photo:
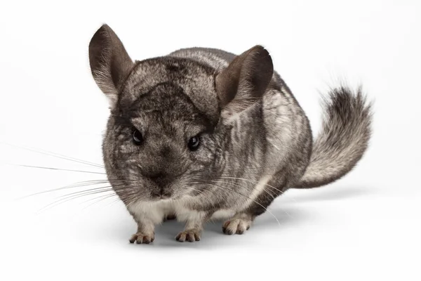
[{"label": "whole grey chinchilla with big ears and bushy tail", "polygon": [[185,222],[180,242],[203,223],[243,234],[289,188],[338,180],[370,138],[370,104],[346,86],[325,99],[315,141],[309,120],[262,46],[241,55],[184,48],[131,60],[102,25],[89,44],[93,79],[110,103],[102,144],[107,178],[138,224],[130,239],[154,241],[166,218]]}]

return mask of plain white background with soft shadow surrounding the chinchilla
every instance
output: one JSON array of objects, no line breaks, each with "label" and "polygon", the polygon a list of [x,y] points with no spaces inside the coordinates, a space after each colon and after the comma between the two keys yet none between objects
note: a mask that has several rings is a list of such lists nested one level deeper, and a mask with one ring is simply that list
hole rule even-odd
[{"label": "plain white background with soft shadow surrounding the chinchilla", "polygon": [[[13,4],[12,4],[13,3]],[[420,1],[9,1],[0,8],[0,280],[420,280]],[[128,244],[120,202],[64,192],[19,199],[103,172],[24,150],[102,164],[107,100],[88,67],[88,42],[109,24],[133,59],[205,46],[262,44],[316,132],[319,92],[347,79],[375,101],[370,149],[325,188],[290,190],[246,235],[209,224],[179,243],[182,225]],[[18,145],[20,148],[7,145]],[[88,187],[85,187],[88,188]],[[76,188],[83,190],[83,188]]]}]

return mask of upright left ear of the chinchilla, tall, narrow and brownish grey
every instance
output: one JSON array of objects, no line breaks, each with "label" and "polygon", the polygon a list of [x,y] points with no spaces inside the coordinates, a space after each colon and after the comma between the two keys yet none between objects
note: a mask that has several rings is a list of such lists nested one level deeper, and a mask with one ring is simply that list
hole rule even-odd
[{"label": "upright left ear of the chinchilla, tall, narrow and brownish grey", "polygon": [[120,87],[134,63],[108,25],[102,25],[93,35],[89,43],[89,63],[93,79],[114,107]]}]

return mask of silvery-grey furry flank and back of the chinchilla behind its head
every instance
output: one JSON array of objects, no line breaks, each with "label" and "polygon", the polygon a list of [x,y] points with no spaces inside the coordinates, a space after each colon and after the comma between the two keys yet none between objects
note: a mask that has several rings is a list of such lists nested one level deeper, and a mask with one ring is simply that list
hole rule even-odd
[{"label": "silvery-grey furry flank and back of the chinchilla behind its head", "polygon": [[[185,48],[169,56],[197,61],[214,72],[223,70],[235,58],[232,53],[212,48]],[[312,152],[309,121],[274,72],[262,98],[235,114],[229,108],[222,110],[220,123],[218,129],[224,137],[213,167],[220,174],[209,180],[238,193],[215,187],[199,205],[207,210],[211,201],[211,206],[219,205],[218,209],[231,214],[247,210],[258,216],[274,197],[302,178]]]}]

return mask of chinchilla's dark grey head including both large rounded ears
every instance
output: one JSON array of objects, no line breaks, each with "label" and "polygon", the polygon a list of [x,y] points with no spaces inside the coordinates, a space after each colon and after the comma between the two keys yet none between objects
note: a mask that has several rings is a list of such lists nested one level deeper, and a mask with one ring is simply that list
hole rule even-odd
[{"label": "chinchilla's dark grey head including both large rounded ears", "polygon": [[223,120],[261,98],[273,73],[261,46],[222,71],[171,56],[133,62],[107,25],[91,39],[89,60],[110,103],[107,176],[126,204],[195,196],[206,188],[198,179],[218,178],[232,142]]}]

